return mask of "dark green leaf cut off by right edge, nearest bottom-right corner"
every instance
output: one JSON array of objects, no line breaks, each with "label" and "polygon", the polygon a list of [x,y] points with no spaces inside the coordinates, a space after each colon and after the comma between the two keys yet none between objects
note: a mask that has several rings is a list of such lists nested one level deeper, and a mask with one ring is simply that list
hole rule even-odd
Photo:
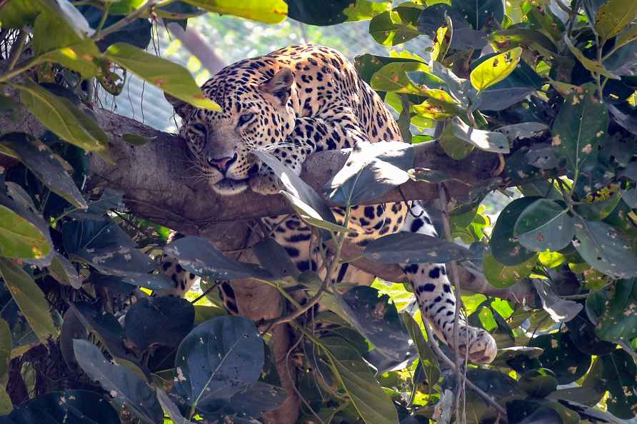
[{"label": "dark green leaf cut off by right edge, nearest bottom-right corner", "polygon": [[635,360],[624,350],[613,350],[598,360],[601,360],[602,378],[608,389],[608,412],[626,420],[634,418],[637,411]]}]

